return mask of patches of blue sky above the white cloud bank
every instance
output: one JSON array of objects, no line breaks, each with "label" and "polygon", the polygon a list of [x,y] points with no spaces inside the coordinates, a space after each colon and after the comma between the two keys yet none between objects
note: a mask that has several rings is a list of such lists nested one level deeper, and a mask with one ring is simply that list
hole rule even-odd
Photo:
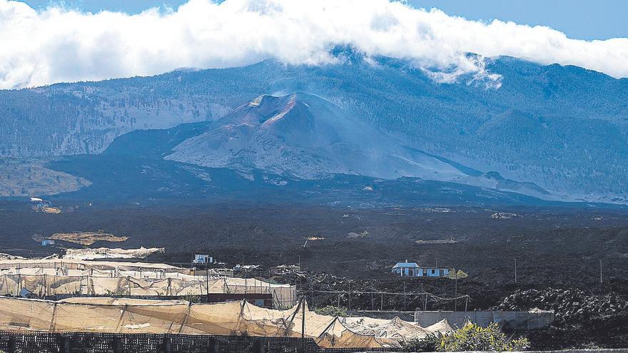
[{"label": "patches of blue sky above the white cloud bank", "polygon": [[[24,0],[34,8],[62,2],[84,11],[103,9],[136,13],[154,6],[176,8],[186,0]],[[442,9],[450,15],[518,24],[545,25],[573,39],[628,37],[627,0],[410,0],[417,7]]]}]

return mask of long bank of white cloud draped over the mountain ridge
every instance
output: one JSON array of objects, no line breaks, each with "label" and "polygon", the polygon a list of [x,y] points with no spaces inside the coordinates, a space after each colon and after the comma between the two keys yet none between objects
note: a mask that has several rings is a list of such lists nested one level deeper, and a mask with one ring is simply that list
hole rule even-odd
[{"label": "long bank of white cloud draped over the mountain ridge", "polygon": [[581,41],[544,26],[468,21],[399,1],[190,0],[176,10],[129,15],[36,11],[0,0],[0,88],[239,66],[269,57],[318,64],[333,61],[328,50],[335,44],[446,69],[437,75],[445,81],[460,73],[488,75],[467,52],[628,76],[625,38]]}]

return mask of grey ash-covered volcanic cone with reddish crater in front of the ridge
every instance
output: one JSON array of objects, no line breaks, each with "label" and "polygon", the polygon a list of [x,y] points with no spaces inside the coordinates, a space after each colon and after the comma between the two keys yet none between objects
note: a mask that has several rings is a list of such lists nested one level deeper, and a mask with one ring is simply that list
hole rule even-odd
[{"label": "grey ash-covered volcanic cone with reddish crater in front of the ridge", "polygon": [[295,178],[334,174],[438,180],[554,199],[530,183],[482,173],[399,143],[335,104],[308,93],[263,95],[183,140],[167,160],[259,169]]}]

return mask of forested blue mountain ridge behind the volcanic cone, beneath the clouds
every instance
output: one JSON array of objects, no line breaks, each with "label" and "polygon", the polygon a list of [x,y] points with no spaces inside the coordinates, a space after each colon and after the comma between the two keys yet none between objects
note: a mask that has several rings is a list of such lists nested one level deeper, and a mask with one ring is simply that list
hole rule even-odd
[{"label": "forested blue mountain ridge behind the volcanic cone, beneath the clouds", "polygon": [[486,68],[501,76],[500,88],[435,83],[408,61],[352,58],[0,91],[8,97],[0,99],[0,155],[101,153],[129,131],[214,121],[263,93],[306,91],[467,167],[579,200],[628,200],[627,80],[516,58]]}]

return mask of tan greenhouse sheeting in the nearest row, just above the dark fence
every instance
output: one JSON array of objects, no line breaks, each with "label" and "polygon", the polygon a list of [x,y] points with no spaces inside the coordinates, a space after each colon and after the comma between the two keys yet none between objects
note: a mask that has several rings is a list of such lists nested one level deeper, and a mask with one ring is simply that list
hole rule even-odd
[{"label": "tan greenhouse sheeting in the nearest row, just above the dark fence", "polygon": [[[303,312],[305,311],[305,315]],[[303,331],[305,327],[305,331]],[[73,298],[58,302],[0,298],[0,329],[44,332],[182,333],[311,337],[320,347],[398,347],[398,342],[358,334],[337,317],[310,312],[299,303],[287,310],[248,302]]]}]

